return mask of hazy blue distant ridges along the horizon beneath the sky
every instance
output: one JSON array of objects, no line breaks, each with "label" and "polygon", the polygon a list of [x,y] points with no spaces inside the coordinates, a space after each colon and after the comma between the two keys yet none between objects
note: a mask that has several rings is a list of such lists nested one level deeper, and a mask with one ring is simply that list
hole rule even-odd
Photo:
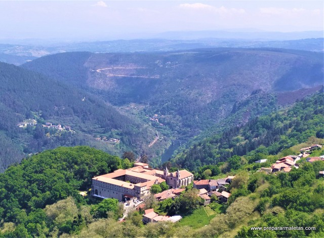
[{"label": "hazy blue distant ridges along the horizon beneath the sky", "polygon": [[[225,32],[226,33],[226,32]],[[39,43],[38,41],[21,42],[20,44],[0,44],[0,61],[20,65],[37,57],[63,52],[87,51],[95,53],[106,52],[164,52],[176,50],[191,50],[211,47],[235,48],[284,48],[323,52],[323,33],[320,32],[293,32],[278,33],[257,32],[258,38],[246,37],[247,32],[235,33],[201,31],[201,32],[169,32],[152,36],[147,39],[128,39],[114,41],[73,42],[73,43]],[[175,35],[178,39],[171,37]],[[227,35],[227,36],[226,36]],[[226,37],[225,37],[226,36]],[[264,38],[269,36],[269,38]],[[298,36],[298,37],[297,37]],[[177,38],[176,37],[176,38]],[[38,45],[36,45],[38,44]],[[39,46],[43,45],[43,46]],[[48,45],[48,46],[47,46]]]}]

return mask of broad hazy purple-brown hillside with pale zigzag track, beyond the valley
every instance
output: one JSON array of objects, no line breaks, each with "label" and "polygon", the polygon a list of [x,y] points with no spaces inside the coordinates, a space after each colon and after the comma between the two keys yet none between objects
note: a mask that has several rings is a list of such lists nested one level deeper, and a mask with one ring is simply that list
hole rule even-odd
[{"label": "broad hazy purple-brown hillside with pale zigzag track, beyond the valley", "polygon": [[[118,107],[145,105],[138,112],[144,121],[157,114],[163,126],[157,124],[156,129],[182,140],[220,123],[235,104],[256,90],[265,102],[263,107],[271,111],[279,102],[267,104],[269,94],[289,91],[294,101],[298,94],[292,91],[322,85],[323,78],[322,54],[271,48],[75,52],[42,57],[22,66],[73,86],[86,86]],[[250,111],[255,109],[260,110]],[[248,121],[249,114],[240,114],[238,124]]]}]

